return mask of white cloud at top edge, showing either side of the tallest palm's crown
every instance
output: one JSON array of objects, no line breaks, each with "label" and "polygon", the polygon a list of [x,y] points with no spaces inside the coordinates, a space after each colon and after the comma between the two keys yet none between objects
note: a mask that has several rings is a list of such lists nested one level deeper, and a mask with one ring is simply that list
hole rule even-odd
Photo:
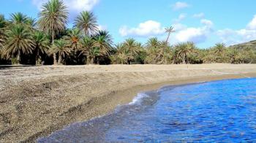
[{"label": "white cloud at top edge, showing either side of the tallest palm's crown", "polygon": [[[32,3],[36,5],[39,9],[42,4],[48,0],[32,0]],[[83,10],[91,10],[99,2],[99,0],[64,0],[64,3],[69,8],[70,12],[81,12]]]}]

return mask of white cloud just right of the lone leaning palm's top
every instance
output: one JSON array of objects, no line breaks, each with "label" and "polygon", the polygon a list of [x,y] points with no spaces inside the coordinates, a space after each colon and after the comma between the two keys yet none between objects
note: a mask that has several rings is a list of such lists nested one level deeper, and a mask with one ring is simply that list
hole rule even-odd
[{"label": "white cloud just right of the lone leaning palm's top", "polygon": [[203,24],[201,27],[190,27],[184,28],[175,36],[176,42],[205,42],[209,34],[211,34],[212,26],[214,25],[211,20],[201,20],[200,23]]}]

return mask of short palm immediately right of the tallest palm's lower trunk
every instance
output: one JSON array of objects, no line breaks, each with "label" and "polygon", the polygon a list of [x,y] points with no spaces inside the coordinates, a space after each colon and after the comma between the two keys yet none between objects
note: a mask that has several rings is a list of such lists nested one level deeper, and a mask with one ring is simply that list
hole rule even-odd
[{"label": "short palm immediately right of the tallest palm's lower trunk", "polygon": [[67,41],[65,41],[64,39],[59,39],[59,40],[56,40],[56,42],[54,42],[54,45],[50,49],[49,53],[58,54],[59,55],[58,64],[61,64],[62,58],[69,55],[71,53],[71,50],[67,45]]}]

